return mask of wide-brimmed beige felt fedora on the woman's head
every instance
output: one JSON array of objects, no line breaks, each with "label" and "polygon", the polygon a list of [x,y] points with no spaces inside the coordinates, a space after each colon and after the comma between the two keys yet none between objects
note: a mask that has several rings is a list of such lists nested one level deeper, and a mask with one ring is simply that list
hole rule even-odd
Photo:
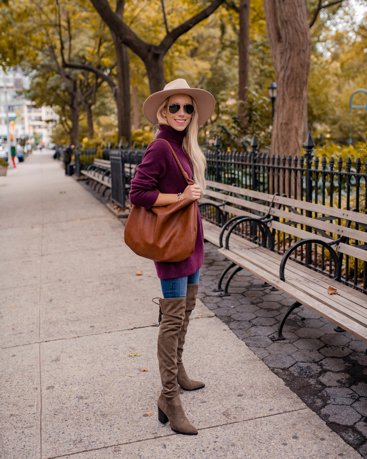
[{"label": "wide-brimmed beige felt fedora on the woman's head", "polygon": [[210,92],[203,89],[190,88],[186,80],[178,78],[166,84],[163,91],[155,92],[145,100],[143,105],[145,118],[152,124],[158,123],[158,108],[167,97],[174,94],[187,94],[194,99],[199,116],[198,126],[208,121],[214,112],[215,99]]}]

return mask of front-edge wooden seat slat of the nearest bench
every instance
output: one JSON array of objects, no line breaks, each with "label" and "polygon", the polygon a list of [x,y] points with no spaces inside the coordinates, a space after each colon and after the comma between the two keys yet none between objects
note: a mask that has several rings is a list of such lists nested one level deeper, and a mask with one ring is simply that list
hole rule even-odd
[{"label": "front-edge wooden seat slat of the nearest bench", "polygon": [[278,290],[283,291],[290,297],[294,298],[295,301],[299,301],[301,304],[305,305],[307,308],[310,308],[312,311],[320,314],[325,319],[330,320],[335,325],[339,325],[345,330],[349,331],[352,335],[361,339],[362,341],[367,342],[367,328],[363,325],[355,322],[349,317],[345,316],[338,311],[324,305],[322,302],[317,301],[315,298],[306,295],[304,292],[299,291],[293,285],[289,285],[286,282],[282,282],[276,276],[273,276],[270,273],[267,273],[264,269],[254,265],[253,263],[245,260],[239,255],[231,252],[230,250],[225,249],[224,247],[218,249],[218,252],[222,254],[223,257],[228,258],[233,263],[236,263],[239,266],[242,266],[244,269],[247,269],[253,274],[258,275],[261,279],[265,280],[270,285],[273,285]]}]

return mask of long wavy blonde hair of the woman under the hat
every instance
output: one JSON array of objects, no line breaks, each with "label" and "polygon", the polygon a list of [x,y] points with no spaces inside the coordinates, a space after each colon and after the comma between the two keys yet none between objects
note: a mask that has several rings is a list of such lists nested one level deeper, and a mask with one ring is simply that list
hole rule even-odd
[{"label": "long wavy blonde hair of the woman under the hat", "polygon": [[[164,124],[169,126],[167,123],[167,118],[164,117],[161,113],[162,108],[167,108],[169,97],[161,104],[157,112],[158,123],[154,126],[154,139],[156,139],[159,134],[159,125]],[[183,151],[189,157],[193,167],[193,179],[196,185],[200,185],[200,198],[204,195],[204,190],[206,189],[205,181],[205,169],[206,169],[206,158],[203,152],[200,149],[198,144],[198,112],[196,109],[196,104],[194,99],[191,97],[192,104],[195,108],[194,113],[192,114],[191,121],[187,127],[186,135],[183,138],[182,148]]]}]

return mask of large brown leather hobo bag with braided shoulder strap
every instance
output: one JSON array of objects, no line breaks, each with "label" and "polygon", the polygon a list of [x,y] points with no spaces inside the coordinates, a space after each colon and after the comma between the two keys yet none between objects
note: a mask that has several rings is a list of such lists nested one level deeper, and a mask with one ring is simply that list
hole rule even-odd
[{"label": "large brown leather hobo bag with braided shoulder strap", "polygon": [[[172,146],[172,154],[188,185],[194,183],[183,170]],[[197,203],[183,199],[168,206],[133,206],[125,225],[125,242],[133,252],[154,261],[178,262],[194,253],[197,235]]]}]

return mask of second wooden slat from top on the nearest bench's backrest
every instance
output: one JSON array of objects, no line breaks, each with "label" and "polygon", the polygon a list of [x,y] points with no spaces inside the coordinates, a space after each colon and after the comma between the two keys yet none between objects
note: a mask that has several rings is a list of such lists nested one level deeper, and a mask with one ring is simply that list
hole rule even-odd
[{"label": "second wooden slat from top on the nearest bench's backrest", "polygon": [[285,212],[284,210],[275,208],[270,209],[270,215],[308,225],[312,228],[323,229],[324,231],[329,231],[333,234],[339,234],[340,236],[346,236],[352,239],[357,239],[358,241],[367,242],[367,233],[364,231],[359,231],[358,229],[345,228],[341,225],[324,222],[322,220],[316,220],[315,218],[305,217],[304,215],[300,215],[298,213]]}]

